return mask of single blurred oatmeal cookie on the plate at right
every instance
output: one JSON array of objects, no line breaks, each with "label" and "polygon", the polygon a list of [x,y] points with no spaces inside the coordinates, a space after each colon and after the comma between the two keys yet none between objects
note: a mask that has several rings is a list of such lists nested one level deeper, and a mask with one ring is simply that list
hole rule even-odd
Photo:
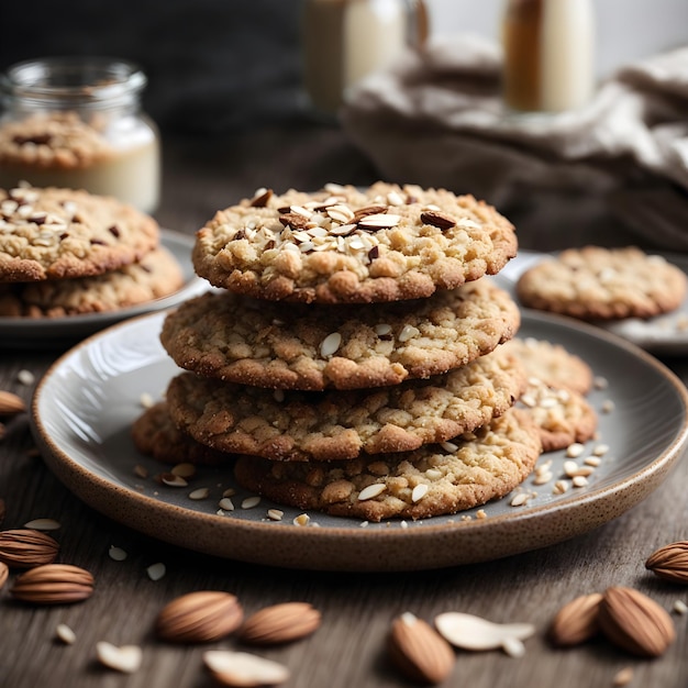
[{"label": "single blurred oatmeal cookie on the plate at right", "polygon": [[683,270],[634,246],[568,248],[528,269],[517,282],[524,306],[581,320],[651,318],[680,306]]}]

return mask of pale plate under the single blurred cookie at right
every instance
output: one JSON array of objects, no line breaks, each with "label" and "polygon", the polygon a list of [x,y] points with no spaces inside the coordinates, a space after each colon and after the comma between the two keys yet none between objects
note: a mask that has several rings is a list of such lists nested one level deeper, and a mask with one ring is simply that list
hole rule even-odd
[{"label": "pale plate under the single blurred cookie at right", "polygon": [[[673,263],[688,275],[688,257],[659,251],[653,253],[664,256],[669,263]],[[492,279],[507,289],[518,301],[515,284],[519,277],[528,268],[554,256],[556,256],[556,253],[519,249],[518,256],[510,260],[499,275],[496,275]],[[656,318],[648,318],[647,320],[629,318],[614,322],[595,321],[593,324],[608,332],[613,332],[654,354],[688,353],[688,298],[675,311],[657,315]]]}]

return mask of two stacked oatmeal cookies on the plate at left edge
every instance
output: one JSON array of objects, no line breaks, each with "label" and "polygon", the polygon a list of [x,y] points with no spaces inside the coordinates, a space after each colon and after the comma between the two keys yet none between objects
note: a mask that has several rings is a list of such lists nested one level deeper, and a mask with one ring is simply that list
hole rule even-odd
[{"label": "two stacked oatmeal cookies on the plate at left edge", "polygon": [[81,190],[0,189],[0,317],[112,311],[182,282],[157,223],[134,208]]}]

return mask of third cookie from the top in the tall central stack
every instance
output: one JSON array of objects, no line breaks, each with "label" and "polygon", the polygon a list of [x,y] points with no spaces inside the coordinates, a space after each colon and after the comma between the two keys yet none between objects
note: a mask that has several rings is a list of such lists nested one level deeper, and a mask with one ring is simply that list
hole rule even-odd
[{"label": "third cookie from the top in the tall central stack", "polygon": [[497,349],[426,381],[374,390],[275,393],[184,373],[166,399],[173,422],[213,448],[332,460],[451,440],[503,413],[524,388],[523,368]]}]

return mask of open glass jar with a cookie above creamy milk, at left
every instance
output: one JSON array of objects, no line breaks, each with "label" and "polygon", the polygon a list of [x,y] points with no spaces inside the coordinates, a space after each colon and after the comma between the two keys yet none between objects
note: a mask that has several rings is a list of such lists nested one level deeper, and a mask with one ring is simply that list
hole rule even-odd
[{"label": "open glass jar with a cookie above creamy milk, at left", "polygon": [[144,212],[159,200],[155,124],[141,111],[146,77],[129,62],[46,58],[0,77],[0,187],[19,181],[114,196]]}]

